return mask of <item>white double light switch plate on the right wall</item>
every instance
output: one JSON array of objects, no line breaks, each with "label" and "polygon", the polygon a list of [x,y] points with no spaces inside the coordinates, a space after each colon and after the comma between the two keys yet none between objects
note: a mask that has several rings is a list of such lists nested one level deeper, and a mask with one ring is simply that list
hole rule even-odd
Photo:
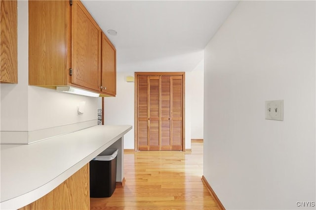
[{"label": "white double light switch plate on the right wall", "polygon": [[266,101],[266,119],[283,121],[283,100]]}]

